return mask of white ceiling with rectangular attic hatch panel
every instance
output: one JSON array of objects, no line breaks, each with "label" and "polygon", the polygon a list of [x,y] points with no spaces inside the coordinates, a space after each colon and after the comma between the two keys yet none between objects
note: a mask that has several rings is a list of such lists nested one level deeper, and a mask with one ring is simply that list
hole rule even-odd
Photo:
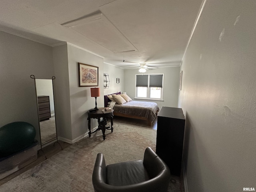
[{"label": "white ceiling with rectangular attic hatch panel", "polygon": [[[121,68],[180,66],[202,0],[1,0],[0,30]],[[123,62],[124,60],[124,62]]]}]

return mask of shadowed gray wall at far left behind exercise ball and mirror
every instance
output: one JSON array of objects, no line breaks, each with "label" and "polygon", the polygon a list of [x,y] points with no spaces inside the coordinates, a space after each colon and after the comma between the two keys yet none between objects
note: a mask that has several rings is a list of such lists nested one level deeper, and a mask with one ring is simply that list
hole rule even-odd
[{"label": "shadowed gray wall at far left behind exercise ball and mirror", "polygon": [[40,141],[34,80],[54,76],[52,47],[0,31],[0,126],[25,121]]}]

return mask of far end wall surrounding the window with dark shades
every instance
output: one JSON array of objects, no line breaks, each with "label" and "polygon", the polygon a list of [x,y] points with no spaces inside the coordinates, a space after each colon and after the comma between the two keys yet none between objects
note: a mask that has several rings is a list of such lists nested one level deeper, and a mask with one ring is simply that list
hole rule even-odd
[{"label": "far end wall surrounding the window with dark shades", "polygon": [[[134,100],[135,97],[135,75],[141,74],[138,69],[124,70],[124,92]],[[180,67],[164,67],[147,70],[144,74],[164,74],[164,101],[149,100],[156,102],[158,107],[178,107],[178,91]],[[136,99],[138,100],[138,99]],[[145,101],[145,100],[144,100]]]}]

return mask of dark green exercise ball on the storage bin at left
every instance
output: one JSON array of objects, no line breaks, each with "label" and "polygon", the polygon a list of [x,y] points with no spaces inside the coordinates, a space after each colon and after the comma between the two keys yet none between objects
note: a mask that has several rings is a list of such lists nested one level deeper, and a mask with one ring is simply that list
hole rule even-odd
[{"label": "dark green exercise ball on the storage bin at left", "polygon": [[36,129],[27,122],[13,122],[0,128],[0,156],[23,150],[34,142]]}]

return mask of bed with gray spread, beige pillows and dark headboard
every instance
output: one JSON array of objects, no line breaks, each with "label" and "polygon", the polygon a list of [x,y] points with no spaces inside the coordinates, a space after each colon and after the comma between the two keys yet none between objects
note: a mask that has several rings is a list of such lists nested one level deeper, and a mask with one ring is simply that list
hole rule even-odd
[{"label": "bed with gray spread, beige pillows and dark headboard", "polygon": [[105,95],[104,106],[111,107],[114,110],[114,116],[146,120],[150,126],[159,112],[155,102],[134,101],[121,92]]}]

